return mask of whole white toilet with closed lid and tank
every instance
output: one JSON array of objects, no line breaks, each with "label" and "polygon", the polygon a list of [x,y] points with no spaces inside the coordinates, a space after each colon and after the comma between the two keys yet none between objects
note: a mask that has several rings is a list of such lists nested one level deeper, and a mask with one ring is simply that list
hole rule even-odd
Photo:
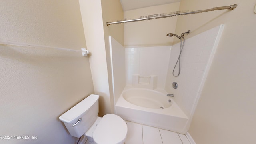
[{"label": "whole white toilet with closed lid and tank", "polygon": [[59,119],[71,136],[85,135],[89,144],[123,144],[127,134],[126,122],[115,114],[98,117],[99,95],[91,94]]}]

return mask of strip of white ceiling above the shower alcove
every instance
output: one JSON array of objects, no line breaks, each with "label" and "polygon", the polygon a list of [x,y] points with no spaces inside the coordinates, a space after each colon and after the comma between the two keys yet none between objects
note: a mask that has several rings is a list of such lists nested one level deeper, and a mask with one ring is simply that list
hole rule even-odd
[{"label": "strip of white ceiling above the shower alcove", "polygon": [[120,0],[123,11],[180,2],[180,0]]}]

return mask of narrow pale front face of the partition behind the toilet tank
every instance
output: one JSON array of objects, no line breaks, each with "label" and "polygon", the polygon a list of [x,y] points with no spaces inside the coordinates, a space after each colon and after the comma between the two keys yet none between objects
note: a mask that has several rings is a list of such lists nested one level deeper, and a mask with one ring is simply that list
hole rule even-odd
[{"label": "narrow pale front face of the partition behind the toilet tank", "polygon": [[89,60],[94,92],[100,95],[99,116],[103,116],[111,113],[111,109],[101,2],[100,0],[79,0],[79,4],[86,46],[91,52]]}]

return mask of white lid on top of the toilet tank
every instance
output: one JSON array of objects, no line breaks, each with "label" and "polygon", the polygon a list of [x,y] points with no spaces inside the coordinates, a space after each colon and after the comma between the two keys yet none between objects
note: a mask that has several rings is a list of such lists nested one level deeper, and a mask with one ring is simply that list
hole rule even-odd
[{"label": "white lid on top of the toilet tank", "polygon": [[82,117],[82,115],[84,115],[84,113],[86,113],[95,102],[97,102],[99,97],[99,95],[91,94],[76,104],[73,108],[62,114],[59,119],[68,124],[74,123],[78,118]]}]

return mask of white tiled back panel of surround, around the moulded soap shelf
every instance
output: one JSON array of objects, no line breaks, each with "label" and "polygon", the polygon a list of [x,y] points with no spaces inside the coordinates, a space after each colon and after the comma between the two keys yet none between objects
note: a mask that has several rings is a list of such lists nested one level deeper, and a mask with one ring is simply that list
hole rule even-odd
[{"label": "white tiled back panel of surround, around the moulded soap shelf", "polygon": [[132,75],[158,76],[157,88],[164,89],[171,46],[126,48],[126,86],[132,85]]}]

